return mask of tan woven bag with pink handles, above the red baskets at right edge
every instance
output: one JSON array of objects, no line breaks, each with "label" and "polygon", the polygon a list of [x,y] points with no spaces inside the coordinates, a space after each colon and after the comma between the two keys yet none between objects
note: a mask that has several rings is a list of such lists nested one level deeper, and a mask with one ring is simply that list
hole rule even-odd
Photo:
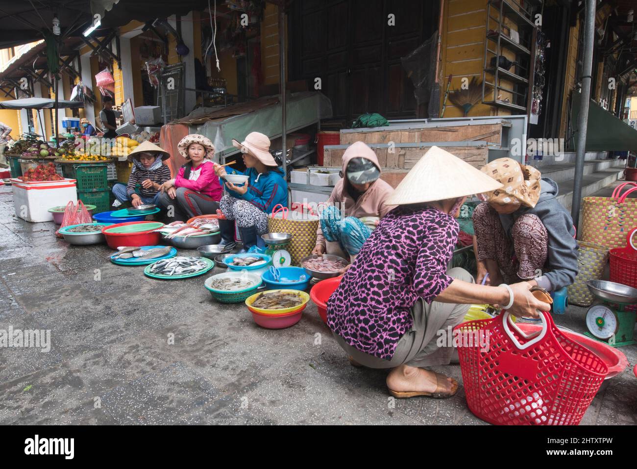
[{"label": "tan woven bag with pink handles, above the red baskets at right edge", "polygon": [[624,182],[611,197],[584,197],[581,241],[608,248],[624,247],[626,235],[637,226],[637,198],[628,198],[637,184]]}]

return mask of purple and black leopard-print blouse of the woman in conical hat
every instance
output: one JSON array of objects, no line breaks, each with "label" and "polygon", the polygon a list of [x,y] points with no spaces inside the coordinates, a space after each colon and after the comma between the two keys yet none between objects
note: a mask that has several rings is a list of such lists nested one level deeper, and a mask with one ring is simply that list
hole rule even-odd
[{"label": "purple and black leopard-print blouse of the woman in conical hat", "polygon": [[447,264],[458,230],[434,207],[392,209],[327,302],[327,325],[357,350],[390,360],[413,325],[413,304],[431,303],[453,281]]}]

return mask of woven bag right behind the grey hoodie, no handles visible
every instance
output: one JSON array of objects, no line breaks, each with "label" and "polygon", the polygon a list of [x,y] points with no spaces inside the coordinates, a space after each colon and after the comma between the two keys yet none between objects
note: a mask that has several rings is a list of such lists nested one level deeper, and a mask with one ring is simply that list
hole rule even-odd
[{"label": "woven bag right behind the grey hoodie, no handles visible", "polygon": [[590,306],[595,297],[590,293],[586,282],[589,280],[599,280],[604,273],[604,267],[608,262],[608,248],[601,244],[582,241],[579,243],[578,253],[579,272],[575,277],[573,285],[566,288],[568,292],[568,302],[577,306]]}]

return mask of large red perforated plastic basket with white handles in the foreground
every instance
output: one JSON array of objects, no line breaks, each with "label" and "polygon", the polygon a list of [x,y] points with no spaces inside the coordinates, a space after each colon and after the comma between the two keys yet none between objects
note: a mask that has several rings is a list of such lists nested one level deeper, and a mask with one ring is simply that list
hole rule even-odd
[{"label": "large red perforated plastic basket with white handles in the foreground", "polygon": [[[566,338],[550,314],[540,316],[542,329],[528,336],[506,311],[454,328],[467,339],[484,334],[473,343],[463,340],[470,345],[457,349],[467,405],[476,417],[496,425],[577,425],[582,420],[608,367]],[[487,338],[488,350],[482,350]]]}]

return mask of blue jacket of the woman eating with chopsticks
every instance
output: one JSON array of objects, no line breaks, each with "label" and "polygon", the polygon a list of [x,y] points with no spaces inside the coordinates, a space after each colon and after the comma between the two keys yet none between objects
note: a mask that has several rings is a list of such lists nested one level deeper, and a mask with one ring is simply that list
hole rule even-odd
[{"label": "blue jacket of the woman eating with chopsticks", "polygon": [[228,174],[243,174],[250,178],[248,191],[243,195],[225,186],[232,197],[247,200],[257,209],[268,214],[272,213],[272,209],[278,204],[287,207],[287,181],[283,178],[283,171],[280,168],[277,167],[262,174],[258,174],[254,168],[248,168],[245,173],[233,169]]}]

